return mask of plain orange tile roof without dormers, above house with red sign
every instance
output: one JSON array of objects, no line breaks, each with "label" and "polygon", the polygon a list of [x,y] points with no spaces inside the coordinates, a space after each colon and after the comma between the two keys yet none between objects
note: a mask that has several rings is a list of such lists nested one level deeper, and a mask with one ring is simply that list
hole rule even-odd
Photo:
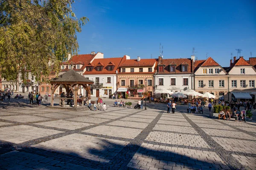
[{"label": "plain orange tile roof without dormers, above house with red sign", "polygon": [[157,62],[157,59],[140,59],[138,62],[137,59],[127,59],[119,67],[143,67],[150,66],[152,67]]}]

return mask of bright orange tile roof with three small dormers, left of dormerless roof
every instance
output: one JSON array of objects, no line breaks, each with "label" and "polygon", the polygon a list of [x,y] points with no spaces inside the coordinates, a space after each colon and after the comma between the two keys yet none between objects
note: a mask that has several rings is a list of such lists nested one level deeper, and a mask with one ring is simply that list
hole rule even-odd
[{"label": "bright orange tile roof with three small dormers, left of dormerless roof", "polygon": [[[118,65],[122,61],[122,57],[117,58],[105,58],[105,59],[94,59],[93,62],[89,63],[87,66],[93,66],[94,68],[92,71],[84,71],[84,75],[86,74],[116,74],[116,69],[118,68]],[[100,65],[98,65],[100,63]],[[113,70],[108,71],[108,64],[113,64]],[[97,71],[96,66],[103,66],[102,71]]]}]

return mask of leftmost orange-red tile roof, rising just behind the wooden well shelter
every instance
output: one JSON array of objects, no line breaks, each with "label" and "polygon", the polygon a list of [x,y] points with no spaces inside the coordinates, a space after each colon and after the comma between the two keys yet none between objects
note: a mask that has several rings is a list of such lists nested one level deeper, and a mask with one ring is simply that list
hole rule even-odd
[{"label": "leftmost orange-red tile roof, rising just behind the wooden well shelter", "polygon": [[[84,68],[86,67],[86,65],[93,59],[93,57],[95,55],[96,54],[94,54],[94,55],[91,55],[91,54],[73,55],[70,60],[68,60],[67,62],[63,62],[61,65],[81,64],[82,65],[81,68],[79,68],[79,69],[73,68],[73,70],[84,71]],[[69,71],[69,70],[70,70],[69,68],[65,68],[61,71]]]}]

